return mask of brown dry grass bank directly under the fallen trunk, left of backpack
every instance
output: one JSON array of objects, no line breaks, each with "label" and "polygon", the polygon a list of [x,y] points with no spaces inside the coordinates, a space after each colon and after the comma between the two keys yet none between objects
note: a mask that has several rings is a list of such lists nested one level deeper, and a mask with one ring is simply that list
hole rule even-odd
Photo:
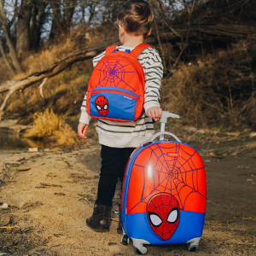
[{"label": "brown dry grass bank directly under the fallen trunk, left of backpack", "polygon": [[[49,79],[44,84],[44,98],[40,96],[36,84],[23,90],[22,94],[15,92],[8,102],[5,116],[20,113],[20,116],[32,118],[32,113],[45,108],[52,108],[55,113],[65,116],[78,114],[91,69],[91,61],[84,61]],[[3,96],[0,99],[3,100]]]}]

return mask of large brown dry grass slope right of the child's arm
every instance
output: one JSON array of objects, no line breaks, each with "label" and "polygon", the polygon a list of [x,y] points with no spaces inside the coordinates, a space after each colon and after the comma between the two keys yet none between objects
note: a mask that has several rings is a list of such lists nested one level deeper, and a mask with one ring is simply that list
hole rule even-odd
[{"label": "large brown dry grass slope right of the child's arm", "polygon": [[189,125],[255,126],[255,58],[255,45],[241,42],[181,64],[163,84],[162,107]]}]

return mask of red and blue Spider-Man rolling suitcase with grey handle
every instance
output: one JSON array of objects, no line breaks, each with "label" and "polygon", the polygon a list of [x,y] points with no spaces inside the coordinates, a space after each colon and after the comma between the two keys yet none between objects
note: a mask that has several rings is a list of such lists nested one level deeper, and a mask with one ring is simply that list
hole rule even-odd
[{"label": "red and blue Spider-Man rolling suitcase with grey handle", "polygon": [[[196,251],[206,212],[206,172],[195,148],[181,143],[165,131],[168,117],[163,111],[160,132],[131,155],[125,170],[121,196],[121,241],[132,241],[137,253],[144,245],[186,243]],[[168,141],[165,135],[176,141]],[[160,137],[160,140],[154,141]]]}]

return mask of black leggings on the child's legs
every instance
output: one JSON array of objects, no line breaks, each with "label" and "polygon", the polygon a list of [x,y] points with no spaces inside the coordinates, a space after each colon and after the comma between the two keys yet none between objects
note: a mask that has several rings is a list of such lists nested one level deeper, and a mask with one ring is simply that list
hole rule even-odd
[{"label": "black leggings on the child's legs", "polygon": [[112,200],[118,182],[123,182],[125,166],[135,148],[110,148],[102,145],[102,168],[98,185],[96,203],[112,206]]}]

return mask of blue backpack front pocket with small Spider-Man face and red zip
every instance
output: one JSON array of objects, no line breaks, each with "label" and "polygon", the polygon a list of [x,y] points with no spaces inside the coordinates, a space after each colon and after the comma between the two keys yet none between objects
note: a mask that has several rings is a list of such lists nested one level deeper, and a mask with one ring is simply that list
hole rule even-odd
[{"label": "blue backpack front pocket with small Spider-Man face and red zip", "polygon": [[139,96],[130,90],[101,87],[91,90],[90,116],[100,119],[135,120]]}]

